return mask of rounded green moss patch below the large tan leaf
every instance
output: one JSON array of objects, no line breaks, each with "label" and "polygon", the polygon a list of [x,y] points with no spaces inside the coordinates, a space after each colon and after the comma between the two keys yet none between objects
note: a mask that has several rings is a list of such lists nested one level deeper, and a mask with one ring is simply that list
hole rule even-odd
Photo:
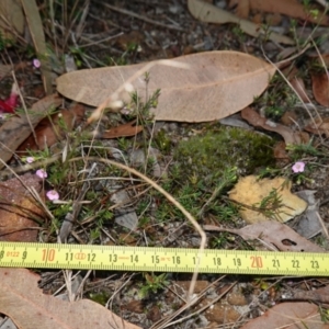
[{"label": "rounded green moss patch below the large tan leaf", "polygon": [[229,168],[236,167],[238,174],[250,174],[274,164],[273,145],[273,139],[257,132],[220,126],[182,140],[174,160],[183,180],[194,177],[212,184]]}]

